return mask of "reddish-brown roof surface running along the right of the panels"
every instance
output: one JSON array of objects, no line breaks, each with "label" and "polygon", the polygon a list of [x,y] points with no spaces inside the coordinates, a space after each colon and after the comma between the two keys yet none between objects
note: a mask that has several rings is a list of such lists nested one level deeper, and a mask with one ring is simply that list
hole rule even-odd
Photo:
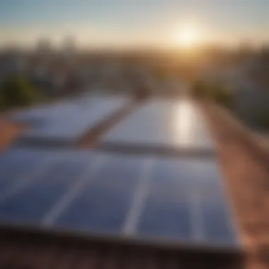
[{"label": "reddish-brown roof surface running along the right of the panels", "polygon": [[228,110],[202,104],[248,251],[247,268],[269,268],[269,143]]}]

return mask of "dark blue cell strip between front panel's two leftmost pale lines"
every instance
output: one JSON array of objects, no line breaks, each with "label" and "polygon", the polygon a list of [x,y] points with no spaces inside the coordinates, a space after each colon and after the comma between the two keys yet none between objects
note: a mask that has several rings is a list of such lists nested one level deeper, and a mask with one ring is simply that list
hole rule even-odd
[{"label": "dark blue cell strip between front panel's two leftmost pale lines", "polygon": [[55,202],[85,171],[84,162],[59,161],[32,184],[0,205],[0,219],[11,222],[40,222]]}]

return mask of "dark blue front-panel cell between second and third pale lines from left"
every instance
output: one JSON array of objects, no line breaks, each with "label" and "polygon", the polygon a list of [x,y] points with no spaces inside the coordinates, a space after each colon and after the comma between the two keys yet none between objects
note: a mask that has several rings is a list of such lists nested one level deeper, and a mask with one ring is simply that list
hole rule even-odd
[{"label": "dark blue front-panel cell between second and third pale lines from left", "polygon": [[109,158],[55,223],[71,229],[122,229],[137,185],[142,159]]}]

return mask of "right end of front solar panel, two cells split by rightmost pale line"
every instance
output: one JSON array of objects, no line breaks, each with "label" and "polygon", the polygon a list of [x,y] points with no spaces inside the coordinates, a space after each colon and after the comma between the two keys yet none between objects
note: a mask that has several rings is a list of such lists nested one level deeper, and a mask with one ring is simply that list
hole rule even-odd
[{"label": "right end of front solar panel, two cells split by rightmost pale line", "polygon": [[138,234],[238,244],[215,161],[156,161]]}]

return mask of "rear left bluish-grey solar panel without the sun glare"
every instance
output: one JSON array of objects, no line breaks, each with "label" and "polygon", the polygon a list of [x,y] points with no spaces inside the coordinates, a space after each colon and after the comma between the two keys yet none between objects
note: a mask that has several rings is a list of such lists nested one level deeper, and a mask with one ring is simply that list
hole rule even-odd
[{"label": "rear left bluish-grey solar panel without the sun glare", "polygon": [[14,115],[19,121],[30,122],[24,139],[52,139],[72,142],[101,120],[122,108],[125,98],[81,96],[42,108],[24,111]]}]

